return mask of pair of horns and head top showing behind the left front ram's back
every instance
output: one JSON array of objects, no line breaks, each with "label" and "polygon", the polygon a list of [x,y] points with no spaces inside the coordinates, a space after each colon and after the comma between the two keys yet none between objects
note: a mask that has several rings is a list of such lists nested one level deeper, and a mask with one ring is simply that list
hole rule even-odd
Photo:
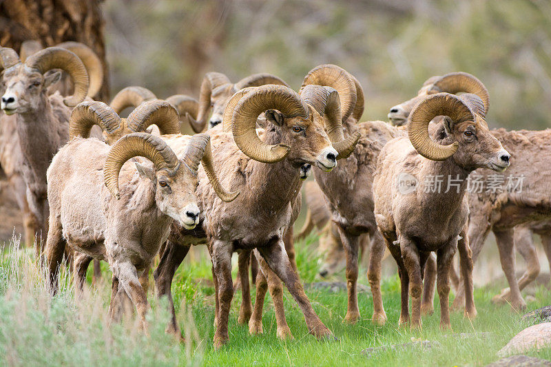
[{"label": "pair of horns and head top showing behind the left front ram's back", "polygon": [[103,138],[109,145],[133,132],[145,132],[150,125],[157,125],[161,134],[178,134],[178,112],[166,101],[147,101],[132,111],[128,118],[121,118],[112,107],[103,102],[85,101],[77,105],[69,120],[69,138],[88,138],[94,125],[101,127]]}]

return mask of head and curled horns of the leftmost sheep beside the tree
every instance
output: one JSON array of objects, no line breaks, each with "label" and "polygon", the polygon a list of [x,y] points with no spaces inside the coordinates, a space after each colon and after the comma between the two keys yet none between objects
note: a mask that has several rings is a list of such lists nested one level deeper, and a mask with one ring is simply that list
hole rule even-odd
[{"label": "head and curled horns of the leftmost sheep beside the tree", "polygon": [[64,48],[45,48],[19,61],[17,53],[10,48],[0,50],[2,82],[6,91],[2,96],[1,108],[6,114],[22,114],[39,108],[45,103],[46,89],[61,78],[61,69],[70,75],[74,94],[64,99],[65,105],[73,107],[83,101],[89,86],[88,74],[79,56]]}]

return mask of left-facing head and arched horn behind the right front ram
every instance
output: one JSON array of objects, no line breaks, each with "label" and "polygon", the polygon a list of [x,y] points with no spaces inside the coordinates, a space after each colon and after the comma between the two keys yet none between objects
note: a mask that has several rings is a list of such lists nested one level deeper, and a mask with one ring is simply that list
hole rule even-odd
[{"label": "left-facing head and arched horn behind the right front ram", "polygon": [[388,120],[391,125],[406,125],[411,109],[419,101],[422,101],[425,96],[440,92],[476,94],[484,103],[485,114],[488,113],[490,96],[484,84],[478,78],[466,72],[452,72],[444,76],[431,76],[423,83],[423,86],[417,92],[417,96],[411,98],[409,101],[391,107],[390,112],[388,112]]}]

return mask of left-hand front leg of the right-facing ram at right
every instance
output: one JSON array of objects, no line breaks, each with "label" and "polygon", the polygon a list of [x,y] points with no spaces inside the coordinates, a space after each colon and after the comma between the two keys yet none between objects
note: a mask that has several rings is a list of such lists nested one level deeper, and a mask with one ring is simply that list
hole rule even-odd
[{"label": "left-hand front leg of the right-facing ram at right", "polygon": [[399,238],[400,251],[404,258],[404,267],[409,278],[409,293],[411,295],[411,327],[421,328],[421,295],[423,279],[421,277],[421,256],[415,242],[401,236]]}]

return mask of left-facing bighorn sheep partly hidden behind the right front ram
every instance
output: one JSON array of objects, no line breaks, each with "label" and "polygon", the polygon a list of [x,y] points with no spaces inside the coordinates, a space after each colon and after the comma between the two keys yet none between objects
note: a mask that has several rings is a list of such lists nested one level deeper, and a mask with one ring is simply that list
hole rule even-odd
[{"label": "left-facing bighorn sheep partly hidden behind the right front ram", "polygon": [[[419,90],[418,96],[391,108],[388,114],[389,120],[399,123],[399,121],[407,118],[413,105],[420,98],[437,92],[475,93],[483,99],[486,111],[488,110],[488,91],[477,78],[466,73],[450,73],[429,78],[424,83],[424,87]],[[549,218],[545,213],[547,212],[546,208],[550,207],[547,203],[550,192],[545,178],[542,177],[542,174],[546,171],[545,161],[537,159],[539,156],[545,156],[541,149],[546,149],[551,145],[550,134],[548,130],[541,132],[526,130],[507,132],[503,129],[492,129],[490,132],[512,154],[508,177],[499,174],[488,175],[486,170],[477,170],[472,176],[477,176],[480,182],[488,182],[490,176],[492,176],[493,180],[503,182],[503,185],[507,185],[509,178],[523,179],[523,187],[519,189],[524,192],[514,192],[518,190],[512,190],[513,192],[511,192],[507,189],[500,190],[501,192],[492,192],[495,190],[481,189],[469,193],[471,219],[468,233],[472,260],[473,262],[477,260],[486,241],[486,236],[492,229],[497,239],[501,266],[510,284],[510,288],[504,289],[500,295],[494,298],[494,301],[503,302],[503,300],[507,300],[514,308],[523,308],[526,303],[522,299],[520,291],[532,282],[539,273],[539,261],[532,244],[532,232],[541,235],[545,253],[548,254],[548,260],[551,262],[551,240],[548,238],[549,228],[545,225],[545,221]],[[537,152],[537,154],[534,152]],[[515,165],[514,162],[522,163]],[[530,169],[526,167],[530,167]],[[534,172],[537,172],[537,174],[534,174]],[[530,192],[526,192],[527,188]],[[512,215],[513,212],[514,216]],[[511,220],[512,218],[514,220]],[[518,283],[515,279],[513,243],[516,244],[519,253],[527,262],[526,272]],[[460,288],[454,306],[457,307],[463,300],[464,293]]]}]

